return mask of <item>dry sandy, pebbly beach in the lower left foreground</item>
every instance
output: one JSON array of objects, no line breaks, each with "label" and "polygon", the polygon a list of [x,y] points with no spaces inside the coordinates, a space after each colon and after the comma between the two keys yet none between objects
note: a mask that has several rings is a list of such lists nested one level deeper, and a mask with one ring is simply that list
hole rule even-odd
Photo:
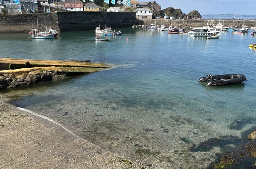
[{"label": "dry sandy, pebbly beach in the lower left foreground", "polygon": [[140,167],[0,99],[0,168]]}]

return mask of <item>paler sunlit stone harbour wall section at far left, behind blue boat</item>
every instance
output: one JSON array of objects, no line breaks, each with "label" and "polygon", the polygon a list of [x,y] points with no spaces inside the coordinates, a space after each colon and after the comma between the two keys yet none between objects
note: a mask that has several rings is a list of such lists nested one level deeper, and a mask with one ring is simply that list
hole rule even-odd
[{"label": "paler sunlit stone harbour wall section at far left, behind blue boat", "polygon": [[47,26],[59,30],[56,13],[0,15],[0,33],[29,32],[30,29],[37,28],[37,20],[40,29]]}]

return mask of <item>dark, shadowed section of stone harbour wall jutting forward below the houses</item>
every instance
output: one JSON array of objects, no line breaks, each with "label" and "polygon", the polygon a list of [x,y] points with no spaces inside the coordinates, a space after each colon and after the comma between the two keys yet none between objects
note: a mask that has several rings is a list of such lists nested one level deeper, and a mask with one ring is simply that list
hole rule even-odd
[{"label": "dark, shadowed section of stone harbour wall jutting forward below the houses", "polygon": [[57,12],[61,31],[90,30],[97,26],[131,27],[135,12]]}]

